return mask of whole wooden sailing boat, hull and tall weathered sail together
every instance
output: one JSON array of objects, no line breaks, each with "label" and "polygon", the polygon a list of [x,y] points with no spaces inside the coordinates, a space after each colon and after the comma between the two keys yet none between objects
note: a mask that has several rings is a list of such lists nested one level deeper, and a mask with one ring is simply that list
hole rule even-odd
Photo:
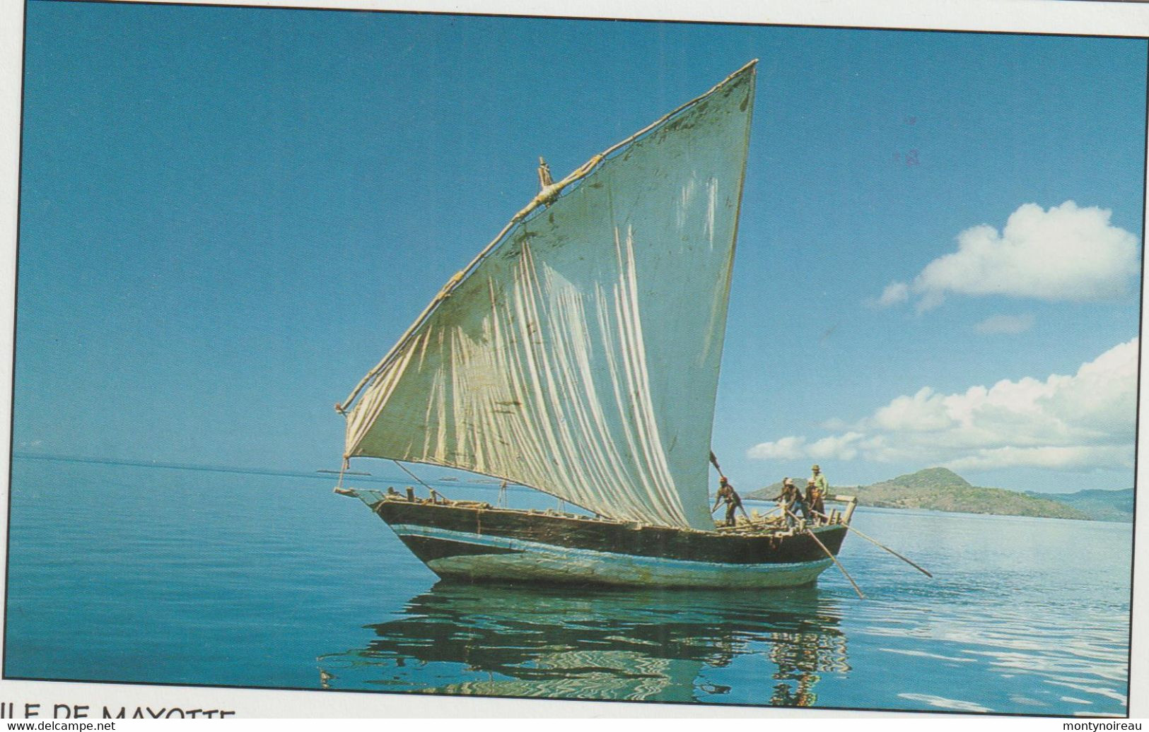
[{"label": "whole wooden sailing boat, hull and tall weathered sail together", "polygon": [[[358,457],[461,468],[592,515],[337,488],[441,577],[812,583],[849,516],[718,529],[708,457],[755,63],[541,192],[337,411]],[[772,528],[773,527],[773,528]]]}]

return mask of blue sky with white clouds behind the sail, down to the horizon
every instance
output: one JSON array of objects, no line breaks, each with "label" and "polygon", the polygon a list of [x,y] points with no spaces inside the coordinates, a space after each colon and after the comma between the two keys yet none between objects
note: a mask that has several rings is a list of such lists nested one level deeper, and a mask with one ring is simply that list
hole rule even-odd
[{"label": "blue sky with white clouds behind the sail, down to the horizon", "polygon": [[714,447],[750,490],[1133,484],[1146,41],[28,5],[14,447],[338,467],[534,195],[759,59]]}]

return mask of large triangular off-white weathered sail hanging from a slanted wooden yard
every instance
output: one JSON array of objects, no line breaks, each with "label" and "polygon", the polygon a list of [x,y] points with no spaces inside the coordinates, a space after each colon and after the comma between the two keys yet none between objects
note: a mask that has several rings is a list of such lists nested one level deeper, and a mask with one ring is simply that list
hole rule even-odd
[{"label": "large triangular off-white weathered sail hanging from a slanted wooden yard", "polygon": [[340,407],[345,458],[463,468],[604,516],[712,530],[753,103],[751,63],[548,186]]}]

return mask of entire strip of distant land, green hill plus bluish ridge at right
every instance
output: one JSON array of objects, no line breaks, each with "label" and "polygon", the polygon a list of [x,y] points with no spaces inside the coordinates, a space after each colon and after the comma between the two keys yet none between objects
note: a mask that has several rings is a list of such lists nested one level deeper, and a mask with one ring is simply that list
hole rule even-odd
[{"label": "entire strip of distant land, green hill plus bluish ridge at right", "polygon": [[[804,476],[803,476],[804,477]],[[781,481],[747,495],[771,500],[781,491]],[[926,468],[872,485],[833,485],[830,492],[857,496],[862,506],[925,508],[1004,516],[1043,516],[1085,521],[1133,521],[1133,489],[1087,489],[1075,493],[1019,492],[970,484],[947,468]]]}]

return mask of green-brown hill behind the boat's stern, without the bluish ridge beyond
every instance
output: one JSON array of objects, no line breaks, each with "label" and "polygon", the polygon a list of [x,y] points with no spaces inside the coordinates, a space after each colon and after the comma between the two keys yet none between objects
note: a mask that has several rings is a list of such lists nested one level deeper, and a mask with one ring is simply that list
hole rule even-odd
[{"label": "green-brown hill behind the boat's stern, without the bluish ridge beyond", "polygon": [[[804,480],[804,478],[803,478]],[[776,483],[747,498],[769,500],[781,490]],[[872,485],[842,488],[831,485],[831,493],[857,496],[862,506],[882,508],[925,508],[963,513],[1000,514],[1005,516],[1047,516],[1051,519],[1089,520],[1087,512],[1049,497],[1020,493],[1001,488],[971,485],[947,468],[926,468],[900,475]]]}]

